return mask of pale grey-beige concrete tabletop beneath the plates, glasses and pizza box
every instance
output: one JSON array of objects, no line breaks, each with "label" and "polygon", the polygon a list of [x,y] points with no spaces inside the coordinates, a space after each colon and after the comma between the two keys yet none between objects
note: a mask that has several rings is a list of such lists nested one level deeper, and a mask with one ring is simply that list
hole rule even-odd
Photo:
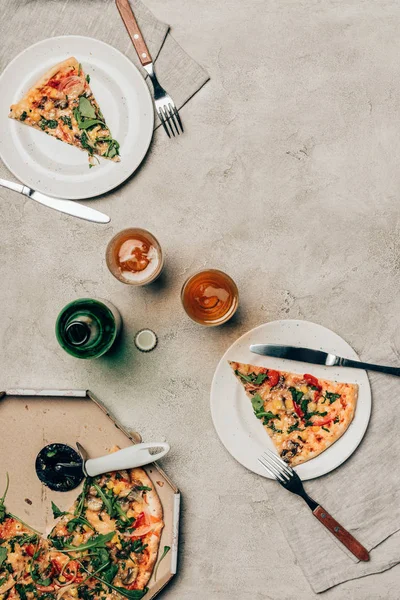
[{"label": "pale grey-beige concrete tabletop beneath the plates, glasses and pizza box", "polygon": [[[322,323],[364,359],[399,356],[400,5],[147,5],[211,81],[182,111],[185,135],[171,142],[159,130],[137,175],[93,202],[110,226],[1,192],[1,387],[88,387],[145,439],[168,439],[163,466],[183,516],[179,574],[163,598],[312,600],[266,501],[271,484],[216,437],[209,388],[223,351],[277,318]],[[2,0],[0,13],[2,68],[29,43],[66,33],[133,56],[111,1]],[[108,240],[130,225],[165,249],[152,287],[130,289],[107,270]],[[237,318],[219,329],[180,306],[182,282],[204,266],[226,270],[241,292]],[[108,298],[125,323],[118,349],[93,362],[54,337],[60,308],[83,296]],[[160,338],[148,355],[133,344],[142,327]],[[399,581],[398,566],[324,597],[397,600]]]}]

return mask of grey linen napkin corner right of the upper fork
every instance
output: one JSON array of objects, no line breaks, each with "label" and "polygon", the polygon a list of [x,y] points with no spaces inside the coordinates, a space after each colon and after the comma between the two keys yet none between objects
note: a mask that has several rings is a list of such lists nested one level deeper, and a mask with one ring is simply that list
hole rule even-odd
[{"label": "grey linen napkin corner right of the upper fork", "polygon": [[[155,62],[160,84],[180,109],[210,79],[205,70],[181,48],[169,34],[169,25],[158,21],[152,12],[140,1],[130,0],[143,37]],[[130,40],[128,33],[127,39]],[[137,55],[133,62],[146,76],[147,85],[153,95],[153,87]],[[155,127],[161,125],[156,116]]]}]

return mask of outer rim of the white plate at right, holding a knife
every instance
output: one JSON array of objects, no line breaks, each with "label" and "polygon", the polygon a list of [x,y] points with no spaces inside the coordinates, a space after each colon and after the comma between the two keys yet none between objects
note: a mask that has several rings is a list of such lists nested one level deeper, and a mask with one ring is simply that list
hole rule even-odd
[{"label": "outer rim of the white plate at right, holding a knife", "polygon": [[[245,338],[249,334],[252,334],[253,332],[256,332],[257,330],[265,327],[266,325],[277,324],[277,323],[293,323],[293,324],[295,324],[295,323],[302,323],[302,324],[310,324],[310,325],[313,325],[313,326],[325,329],[326,331],[329,331],[330,333],[334,334],[335,336],[337,336],[341,340],[343,340],[352,349],[353,353],[359,359],[358,354],[356,353],[356,351],[354,350],[354,348],[341,335],[339,335],[338,333],[336,333],[332,329],[330,329],[328,327],[325,327],[325,325],[321,325],[320,323],[314,323],[313,321],[308,321],[307,319],[274,319],[273,321],[267,321],[265,323],[261,323],[260,325],[257,325],[256,327],[253,327],[252,329],[249,329],[248,331],[244,332],[232,344],[230,344],[230,346],[226,349],[226,351],[224,352],[224,354],[222,355],[222,357],[218,361],[218,364],[217,364],[217,366],[215,368],[214,375],[213,375],[212,382],[211,382],[211,388],[210,388],[210,412],[211,412],[211,419],[212,419],[215,431],[216,431],[216,433],[218,435],[218,438],[219,438],[221,444],[224,446],[224,448],[227,450],[227,452],[229,452],[229,454],[232,456],[232,458],[234,460],[236,460],[240,465],[242,465],[248,471],[253,472],[255,475],[259,475],[261,477],[265,477],[266,479],[272,479],[272,477],[270,477],[267,474],[267,472],[261,474],[261,473],[258,473],[257,471],[254,471],[251,467],[243,464],[243,462],[241,460],[239,460],[239,458],[237,458],[235,455],[232,454],[231,450],[226,445],[225,440],[222,439],[222,437],[221,437],[221,435],[219,433],[219,425],[217,424],[217,417],[216,417],[216,410],[215,410],[216,403],[215,403],[215,400],[214,400],[214,396],[215,396],[216,381],[217,381],[217,378],[219,377],[219,371],[220,371],[222,365],[228,360],[227,359],[227,355],[232,350],[232,348],[234,346],[236,346],[236,344],[238,344],[243,338]],[[370,422],[370,419],[371,419],[371,412],[372,412],[372,390],[371,390],[371,383],[369,381],[367,371],[365,369],[359,369],[359,371],[361,373],[365,374],[366,383],[368,384],[368,389],[367,389],[367,391],[368,391],[368,406],[366,407],[367,410],[368,410],[368,415],[367,415],[365,424],[363,426],[363,429],[360,430],[360,436],[359,436],[358,442],[356,443],[355,446],[352,446],[350,450],[348,450],[347,452],[345,452],[343,454],[343,456],[340,459],[340,462],[335,462],[335,464],[333,464],[333,466],[327,468],[323,473],[316,474],[316,475],[309,475],[309,476],[306,476],[306,477],[302,476],[302,480],[303,481],[308,481],[308,480],[311,480],[311,479],[317,479],[319,477],[323,477],[324,475],[327,475],[328,473],[330,473],[330,472],[334,471],[335,469],[337,469],[338,467],[340,467],[357,450],[358,446],[361,444],[362,440],[364,439],[364,436],[366,434],[366,431],[368,429],[369,422]],[[357,407],[356,407],[356,410],[357,410]],[[348,430],[346,430],[346,431],[348,431]],[[339,440],[337,440],[337,441],[339,441]],[[333,447],[333,446],[334,446],[334,444],[332,444],[331,447]],[[320,455],[318,455],[318,456],[320,456]],[[317,459],[318,456],[316,456],[315,459]],[[310,461],[307,461],[307,462],[311,463],[312,460],[314,460],[314,459],[311,459]],[[306,463],[304,463],[304,464],[306,464]],[[299,465],[299,466],[301,466],[301,465]],[[294,467],[295,470],[297,470],[297,468],[298,467]]]}]

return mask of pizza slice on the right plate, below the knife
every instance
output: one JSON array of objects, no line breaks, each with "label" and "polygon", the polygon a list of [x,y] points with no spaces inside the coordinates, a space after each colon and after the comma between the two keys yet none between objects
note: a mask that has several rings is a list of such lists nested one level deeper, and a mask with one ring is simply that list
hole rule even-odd
[{"label": "pizza slice on the right plate, below the knife", "polygon": [[347,430],[358,386],[230,362],[279,455],[295,466],[318,456]]}]

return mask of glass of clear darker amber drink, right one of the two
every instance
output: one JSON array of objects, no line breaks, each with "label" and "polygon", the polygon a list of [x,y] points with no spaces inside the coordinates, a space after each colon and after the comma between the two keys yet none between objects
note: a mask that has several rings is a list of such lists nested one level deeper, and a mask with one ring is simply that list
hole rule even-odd
[{"label": "glass of clear darker amber drink, right one of the two", "polygon": [[182,304],[191,319],[202,325],[220,325],[235,313],[239,293],[233,279],[210,269],[192,275],[183,286]]}]

